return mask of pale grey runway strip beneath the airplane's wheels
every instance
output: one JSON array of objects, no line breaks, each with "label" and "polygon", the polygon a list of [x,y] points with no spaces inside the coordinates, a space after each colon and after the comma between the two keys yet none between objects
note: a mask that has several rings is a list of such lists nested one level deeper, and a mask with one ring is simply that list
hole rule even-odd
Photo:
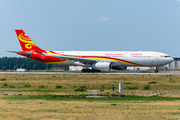
[{"label": "pale grey runway strip beneath the airplane's wheels", "polygon": [[136,72],[100,72],[100,73],[81,73],[81,72],[0,72],[0,74],[98,74],[98,75],[180,75],[180,71],[169,71],[159,73],[136,73]]}]

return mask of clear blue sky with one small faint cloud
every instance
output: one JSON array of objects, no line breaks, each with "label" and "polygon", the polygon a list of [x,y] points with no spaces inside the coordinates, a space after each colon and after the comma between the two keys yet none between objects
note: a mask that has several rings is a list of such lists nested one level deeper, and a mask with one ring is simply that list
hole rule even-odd
[{"label": "clear blue sky with one small faint cloud", "polygon": [[45,50],[180,56],[180,0],[0,0],[0,57],[19,57],[15,29]]}]

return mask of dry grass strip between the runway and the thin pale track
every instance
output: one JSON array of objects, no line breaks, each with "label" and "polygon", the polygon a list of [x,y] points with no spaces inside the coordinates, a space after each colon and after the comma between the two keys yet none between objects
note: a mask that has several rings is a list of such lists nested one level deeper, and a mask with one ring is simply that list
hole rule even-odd
[{"label": "dry grass strip between the runway and the thin pale track", "polygon": [[[143,77],[142,77],[143,76]],[[128,90],[129,86],[137,86],[139,90],[143,90],[146,84],[152,84],[151,89],[154,90],[179,90],[180,75],[71,75],[71,74],[55,74],[55,75],[28,75],[28,74],[1,74],[0,88],[6,82],[8,86],[13,88],[29,88],[35,89],[36,85],[41,89],[55,89],[57,85],[63,86],[63,89],[99,89],[108,90],[112,86],[118,86],[118,83],[124,83],[124,90]],[[136,88],[136,89],[137,89]],[[59,88],[58,88],[59,89]],[[60,88],[61,89],[61,88]],[[118,89],[118,87],[116,87]],[[131,89],[131,88],[130,88]]]}]

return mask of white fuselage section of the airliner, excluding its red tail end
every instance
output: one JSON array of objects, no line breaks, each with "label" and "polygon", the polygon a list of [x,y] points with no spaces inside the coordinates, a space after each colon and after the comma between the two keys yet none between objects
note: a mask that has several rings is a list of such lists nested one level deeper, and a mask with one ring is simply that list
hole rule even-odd
[{"label": "white fuselage section of the airliner, excluding its red tail end", "polygon": [[[79,58],[96,59],[113,62],[112,66],[161,66],[171,63],[174,59],[165,53],[151,51],[53,51],[62,55],[78,56]],[[76,62],[61,63],[75,65]]]}]

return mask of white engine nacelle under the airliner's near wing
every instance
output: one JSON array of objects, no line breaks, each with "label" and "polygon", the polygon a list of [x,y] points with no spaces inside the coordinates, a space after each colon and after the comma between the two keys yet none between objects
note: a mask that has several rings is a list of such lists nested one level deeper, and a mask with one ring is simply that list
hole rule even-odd
[{"label": "white engine nacelle under the airliner's near wing", "polygon": [[92,64],[92,69],[95,70],[111,70],[111,63],[110,62],[98,62]]}]

